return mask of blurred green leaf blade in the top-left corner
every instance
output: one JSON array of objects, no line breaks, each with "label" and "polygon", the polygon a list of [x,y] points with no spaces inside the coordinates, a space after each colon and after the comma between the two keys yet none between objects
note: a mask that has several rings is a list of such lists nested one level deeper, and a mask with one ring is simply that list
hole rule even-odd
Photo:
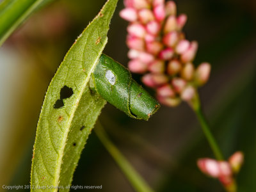
[{"label": "blurred green leaf blade in the top-left corner", "polygon": [[49,0],[2,1],[0,3],[0,46],[31,13],[48,2]]}]

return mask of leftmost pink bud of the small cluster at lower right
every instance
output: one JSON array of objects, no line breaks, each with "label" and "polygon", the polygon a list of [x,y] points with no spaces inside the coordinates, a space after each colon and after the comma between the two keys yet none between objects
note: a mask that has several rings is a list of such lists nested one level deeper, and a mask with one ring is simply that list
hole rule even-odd
[{"label": "leftmost pink bud of the small cluster at lower right", "polygon": [[214,159],[209,159],[209,158],[199,159],[197,161],[197,166],[201,170],[201,172],[211,177],[217,178],[220,176],[218,161]]}]

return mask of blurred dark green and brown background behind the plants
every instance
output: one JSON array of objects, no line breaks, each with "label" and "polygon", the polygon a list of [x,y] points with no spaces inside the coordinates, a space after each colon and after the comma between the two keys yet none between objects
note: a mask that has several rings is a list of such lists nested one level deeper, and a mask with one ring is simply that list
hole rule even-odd
[{"label": "blurred dark green and brown background behind the plants", "polygon": [[[54,1],[0,47],[0,190],[3,185],[29,184],[36,123],[47,86],[104,2]],[[244,152],[239,191],[256,191],[256,1],[175,2],[178,13],[188,15],[187,38],[199,43],[195,65],[212,64],[209,83],[200,89],[209,124],[226,158]],[[120,0],[104,52],[127,65],[127,22],[118,16],[123,7]],[[223,191],[218,180],[196,167],[198,158],[213,156],[187,104],[163,106],[148,122],[133,120],[108,104],[100,121],[156,191]],[[72,184],[102,185],[102,192],[133,191],[93,132]]]}]

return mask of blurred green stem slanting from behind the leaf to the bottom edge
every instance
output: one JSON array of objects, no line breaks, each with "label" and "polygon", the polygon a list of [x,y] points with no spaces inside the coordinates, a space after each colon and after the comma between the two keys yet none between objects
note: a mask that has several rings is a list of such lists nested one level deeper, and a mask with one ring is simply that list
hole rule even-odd
[{"label": "blurred green stem slanting from behind the leaf to the bottom edge", "polygon": [[109,140],[108,135],[104,131],[100,122],[97,122],[97,126],[94,129],[99,140],[102,142],[106,150],[108,150],[109,154],[116,161],[124,175],[127,177],[132,187],[138,192],[153,192],[153,190],[148,186],[145,180],[140,176],[136,170],[132,167],[132,165],[125,159],[125,157],[121,154],[118,148]]}]

